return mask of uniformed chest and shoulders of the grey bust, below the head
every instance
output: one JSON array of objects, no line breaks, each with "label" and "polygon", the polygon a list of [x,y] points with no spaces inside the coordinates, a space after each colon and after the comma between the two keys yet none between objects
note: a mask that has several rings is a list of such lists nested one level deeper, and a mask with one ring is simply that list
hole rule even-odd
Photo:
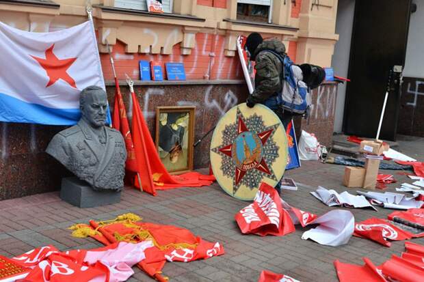
[{"label": "uniformed chest and shoulders of the grey bust, below the head", "polygon": [[127,159],[127,150],[118,130],[105,126],[104,133],[103,138],[96,137],[81,119],[77,125],[55,135],[46,152],[95,190],[119,191],[124,186],[122,164]]}]

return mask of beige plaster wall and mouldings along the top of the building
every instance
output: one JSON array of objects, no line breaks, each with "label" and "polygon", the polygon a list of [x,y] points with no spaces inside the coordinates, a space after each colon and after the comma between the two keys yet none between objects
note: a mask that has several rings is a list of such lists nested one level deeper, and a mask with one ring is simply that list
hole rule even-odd
[{"label": "beige plaster wall and mouldings along the top of the building", "polygon": [[[0,1],[0,20],[28,31],[63,29],[87,19],[85,2],[85,0],[55,0],[60,7],[48,8]],[[113,6],[114,0],[92,0],[91,3]],[[181,54],[189,55],[196,44],[196,33],[202,32],[225,36],[225,55],[233,57],[236,54],[237,36],[257,31],[280,38],[286,44],[289,41],[296,42],[297,62],[330,66],[334,44],[338,39],[338,35],[334,33],[337,0],[321,0],[319,6],[313,6],[314,3],[313,0],[302,0],[299,16],[293,17],[291,1],[273,1],[273,24],[295,27],[298,30],[228,22],[225,19],[236,19],[237,0],[228,0],[226,9],[197,5],[197,0],[174,0],[174,13],[196,16],[204,21],[105,12],[96,7],[93,16],[101,53],[107,52],[106,41],[113,48],[116,40],[120,40],[126,45],[127,53],[166,55],[172,53],[175,44],[180,44]]]}]

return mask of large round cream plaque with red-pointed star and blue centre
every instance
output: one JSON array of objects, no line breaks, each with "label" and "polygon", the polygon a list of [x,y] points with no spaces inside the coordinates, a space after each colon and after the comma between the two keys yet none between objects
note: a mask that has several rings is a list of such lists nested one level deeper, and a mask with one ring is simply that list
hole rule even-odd
[{"label": "large round cream plaque with red-pointed star and blue centre", "polygon": [[218,122],[211,141],[213,175],[231,196],[252,200],[259,184],[276,186],[287,165],[287,137],[263,104],[238,104]]}]

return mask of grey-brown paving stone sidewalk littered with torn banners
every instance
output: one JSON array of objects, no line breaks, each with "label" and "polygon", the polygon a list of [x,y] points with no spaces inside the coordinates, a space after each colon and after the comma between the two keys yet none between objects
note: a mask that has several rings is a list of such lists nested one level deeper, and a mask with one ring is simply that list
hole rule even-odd
[{"label": "grey-brown paving stone sidewalk littered with torn banners", "polygon": [[[424,160],[424,139],[406,138],[399,141],[399,150]],[[294,178],[299,191],[283,191],[285,201],[296,208],[315,214],[323,214],[329,208],[310,195],[318,185],[336,191],[351,191],[341,185],[344,167],[318,162],[303,162],[300,169],[287,171]],[[392,173],[398,183],[412,181],[399,171]],[[386,191],[395,191],[397,184],[390,184]],[[357,189],[352,189],[354,193]],[[360,189],[359,189],[360,190]],[[226,254],[221,257],[184,263],[167,263],[163,274],[170,281],[257,281],[261,270],[288,274],[301,281],[338,281],[334,259],[362,264],[362,257],[369,257],[381,264],[393,253],[403,251],[403,242],[393,242],[390,248],[361,238],[352,237],[344,246],[321,246],[310,240],[302,240],[305,229],[283,237],[242,235],[234,221],[234,215],[243,207],[239,201],[226,195],[213,184],[203,188],[179,188],[159,191],[157,197],[125,188],[122,201],[114,205],[80,209],[59,199],[59,193],[45,193],[18,199],[0,201],[0,254],[8,257],[25,253],[34,247],[53,244],[63,251],[91,249],[101,246],[87,238],[73,238],[66,229],[74,223],[88,223],[90,219],[103,220],[119,214],[133,212],[144,221],[177,225],[190,229],[205,240],[219,241]],[[378,212],[365,209],[347,209],[356,221],[370,217],[386,218],[393,210],[377,208]],[[424,239],[413,242],[424,244]],[[135,269],[129,281],[154,281]]]}]

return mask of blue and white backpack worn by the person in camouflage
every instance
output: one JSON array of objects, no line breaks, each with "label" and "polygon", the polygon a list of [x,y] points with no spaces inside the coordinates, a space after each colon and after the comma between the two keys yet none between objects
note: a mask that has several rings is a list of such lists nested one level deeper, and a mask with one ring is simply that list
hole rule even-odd
[{"label": "blue and white backpack worn by the person in camouflage", "polygon": [[282,72],[280,74],[282,89],[276,97],[278,105],[284,110],[291,111],[291,113],[308,114],[310,104],[312,104],[308,85],[295,77],[295,72],[302,73],[302,70],[293,64],[293,61],[287,55],[283,57],[268,49],[263,51],[274,54],[282,64]]}]

